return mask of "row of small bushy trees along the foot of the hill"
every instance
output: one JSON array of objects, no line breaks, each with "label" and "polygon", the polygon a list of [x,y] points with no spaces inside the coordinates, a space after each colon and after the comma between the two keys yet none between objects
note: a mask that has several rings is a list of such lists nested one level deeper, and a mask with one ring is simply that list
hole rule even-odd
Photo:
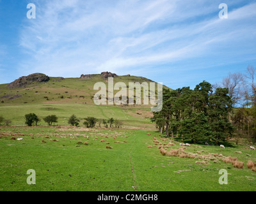
[{"label": "row of small bushy trees along the foot of the hill", "polygon": [[[58,122],[58,117],[56,115],[48,115],[47,117],[44,117],[43,120],[49,125],[52,126],[52,123]],[[98,123],[99,128],[101,127],[101,124],[104,125],[105,128],[110,128],[115,125],[115,128],[122,128],[123,122],[117,119],[97,119],[95,117],[86,117],[83,122],[84,126],[87,128],[94,128],[95,125]],[[40,122],[40,119],[35,113],[29,113],[25,115],[25,124],[28,126],[32,126],[35,124],[37,126],[38,122]],[[76,117],[76,115],[71,115],[68,119],[68,124],[71,126],[79,126],[80,119]]]}]

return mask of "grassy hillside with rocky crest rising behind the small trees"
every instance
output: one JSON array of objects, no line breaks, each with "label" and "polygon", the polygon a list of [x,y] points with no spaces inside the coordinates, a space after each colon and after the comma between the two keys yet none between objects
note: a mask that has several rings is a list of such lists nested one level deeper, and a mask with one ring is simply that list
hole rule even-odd
[{"label": "grassy hillside with rocky crest rising behind the small trees", "polygon": [[[59,117],[58,125],[61,126],[68,125],[67,118],[76,114],[80,119],[87,116],[103,119],[113,117],[123,120],[127,128],[154,128],[154,124],[150,122],[152,105],[94,104],[93,96],[98,92],[93,90],[94,84],[104,82],[108,87],[108,77],[114,77],[114,84],[124,82],[127,90],[129,82],[153,82],[143,77],[117,76],[109,72],[81,75],[77,78],[48,78],[36,73],[20,77],[10,84],[0,85],[0,115],[11,119],[14,125],[24,124],[24,115],[35,112],[41,119],[49,114],[56,114]],[[166,86],[164,88],[169,89]],[[114,91],[114,94],[116,92],[118,91]],[[40,124],[45,125],[42,121]]]}]

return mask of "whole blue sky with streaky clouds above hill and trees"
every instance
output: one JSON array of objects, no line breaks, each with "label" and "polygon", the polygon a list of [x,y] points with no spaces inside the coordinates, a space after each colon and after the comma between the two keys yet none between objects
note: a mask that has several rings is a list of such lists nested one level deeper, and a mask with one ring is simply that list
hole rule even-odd
[{"label": "whole blue sky with streaky clouds above hill and trees", "polygon": [[256,68],[255,45],[250,0],[0,0],[0,84],[111,71],[193,89]]}]

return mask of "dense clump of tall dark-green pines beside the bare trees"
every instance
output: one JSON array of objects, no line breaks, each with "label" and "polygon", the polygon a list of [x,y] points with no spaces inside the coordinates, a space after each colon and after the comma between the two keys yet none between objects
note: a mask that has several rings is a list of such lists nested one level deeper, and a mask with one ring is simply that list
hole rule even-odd
[{"label": "dense clump of tall dark-green pines beside the bare trees", "polygon": [[209,82],[195,89],[183,87],[163,91],[163,109],[154,112],[152,122],[166,136],[178,135],[193,143],[214,142],[217,145],[232,135],[234,126],[228,120],[232,101],[227,88],[213,89]]}]

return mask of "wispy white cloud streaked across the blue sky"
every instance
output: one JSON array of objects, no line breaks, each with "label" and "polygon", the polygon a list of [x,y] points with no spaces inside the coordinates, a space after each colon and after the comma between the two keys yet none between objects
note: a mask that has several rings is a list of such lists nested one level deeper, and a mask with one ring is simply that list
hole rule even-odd
[{"label": "wispy white cloud streaked across the blue sky", "polygon": [[25,20],[20,33],[29,56],[20,70],[77,77],[147,73],[200,57],[243,60],[239,56],[256,54],[248,42],[256,32],[255,20],[248,21],[255,10],[255,3],[240,6],[220,19],[218,4],[209,1],[36,1],[36,19]]}]

